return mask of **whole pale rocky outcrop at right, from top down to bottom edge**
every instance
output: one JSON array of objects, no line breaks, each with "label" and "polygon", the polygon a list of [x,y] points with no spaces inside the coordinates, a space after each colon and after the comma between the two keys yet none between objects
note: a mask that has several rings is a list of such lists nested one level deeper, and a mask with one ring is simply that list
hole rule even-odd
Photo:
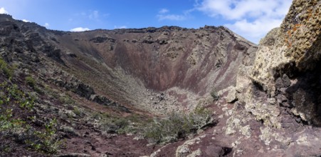
[{"label": "whole pale rocky outcrop at right, from top down to bottom edge", "polygon": [[231,115],[226,136],[238,135],[234,156],[251,154],[245,138],[263,142],[260,156],[320,156],[320,8],[293,1],[280,28],[261,39],[253,66],[239,69],[238,101],[221,115]]}]

